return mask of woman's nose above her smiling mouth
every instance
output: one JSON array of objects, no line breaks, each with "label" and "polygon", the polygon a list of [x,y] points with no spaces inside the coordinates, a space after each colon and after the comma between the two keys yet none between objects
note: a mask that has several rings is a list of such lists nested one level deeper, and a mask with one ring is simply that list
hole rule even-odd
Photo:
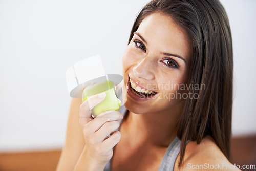
[{"label": "woman's nose above her smiling mouth", "polygon": [[146,80],[154,79],[154,66],[152,59],[145,57],[142,61],[137,63],[133,68],[133,72],[137,78]]}]

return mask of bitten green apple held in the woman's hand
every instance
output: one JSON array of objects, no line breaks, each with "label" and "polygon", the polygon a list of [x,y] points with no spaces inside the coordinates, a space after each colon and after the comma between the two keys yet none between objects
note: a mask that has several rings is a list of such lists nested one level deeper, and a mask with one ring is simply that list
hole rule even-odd
[{"label": "bitten green apple held in the woman's hand", "polygon": [[86,101],[91,96],[102,92],[106,93],[106,97],[92,109],[92,115],[95,117],[104,111],[117,111],[120,108],[121,100],[116,97],[115,85],[113,81],[110,80],[87,86],[82,93],[82,102]]}]

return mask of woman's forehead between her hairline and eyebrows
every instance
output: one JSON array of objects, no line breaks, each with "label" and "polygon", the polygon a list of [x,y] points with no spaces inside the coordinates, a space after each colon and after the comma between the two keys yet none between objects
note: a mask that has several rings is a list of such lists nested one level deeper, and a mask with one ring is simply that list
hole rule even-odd
[{"label": "woman's forehead between her hairline and eyebrows", "polygon": [[190,46],[184,29],[178,26],[172,17],[153,13],[145,17],[138,30],[148,46],[156,47],[165,53],[177,53],[188,59]]}]

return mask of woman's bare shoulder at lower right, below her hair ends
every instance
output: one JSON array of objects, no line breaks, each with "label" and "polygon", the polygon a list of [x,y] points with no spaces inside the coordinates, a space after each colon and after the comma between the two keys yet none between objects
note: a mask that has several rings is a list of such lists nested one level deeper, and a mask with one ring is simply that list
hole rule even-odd
[{"label": "woman's bare shoulder at lower right, below her hair ends", "polygon": [[206,136],[200,144],[190,141],[185,150],[184,160],[178,167],[180,154],[175,162],[175,171],[180,170],[239,170],[231,164],[214,139]]}]

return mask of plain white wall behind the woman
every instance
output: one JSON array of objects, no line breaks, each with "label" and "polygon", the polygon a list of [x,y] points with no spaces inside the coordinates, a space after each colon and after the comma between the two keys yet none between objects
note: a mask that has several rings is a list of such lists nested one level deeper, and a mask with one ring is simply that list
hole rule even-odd
[{"label": "plain white wall behind the woman", "polygon": [[[106,73],[121,74],[146,2],[0,0],[0,151],[62,147],[71,101],[66,69],[101,54]],[[233,134],[255,134],[256,1],[221,2],[233,36]]]}]

